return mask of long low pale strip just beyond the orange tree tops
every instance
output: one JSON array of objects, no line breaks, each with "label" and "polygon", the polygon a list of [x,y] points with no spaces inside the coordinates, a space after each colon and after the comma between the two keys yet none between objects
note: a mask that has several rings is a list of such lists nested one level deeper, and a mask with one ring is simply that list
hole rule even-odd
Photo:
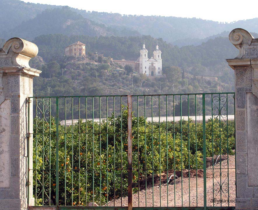
[{"label": "long low pale strip just beyond the orange tree tops", "polygon": [[[195,116],[189,116],[189,118],[195,121]],[[211,115],[206,115],[206,116],[205,116],[205,121],[208,121],[210,118],[211,118]],[[222,120],[222,117],[220,117],[220,118],[221,118],[221,120]],[[234,120],[234,118],[235,118],[235,115],[228,115],[228,120]],[[101,118],[101,121],[102,121],[103,119],[106,119],[106,118]],[[159,122],[159,117],[153,117],[153,118],[147,117],[147,121],[150,121],[150,122],[151,122],[152,119],[153,119],[153,122]],[[182,116],[182,119],[188,120],[188,116]],[[227,117],[225,117],[224,119],[227,120]],[[83,120],[83,122],[86,121],[86,119],[82,119],[82,120]],[[91,121],[92,121],[92,119],[87,119],[87,120],[91,120]],[[168,117],[167,117],[167,120],[168,120],[168,121],[173,121],[173,120],[174,120],[174,117],[173,117],[173,116],[168,116]],[[175,122],[178,122],[179,120],[180,120],[180,116],[175,116]],[[202,122],[202,120],[203,120],[203,119],[202,119],[202,115],[196,116],[196,121],[197,121],[197,122]],[[160,122],[163,122],[163,121],[166,121],[166,116],[165,116],[165,117],[160,117]],[[77,123],[77,122],[78,122],[78,119],[74,119],[74,120],[73,120],[73,124],[75,124],[75,123]],[[99,118],[94,118],[94,122],[99,122]],[[60,122],[60,125],[65,125],[65,120],[62,120],[62,121]],[[67,125],[67,126],[68,126],[68,125],[72,125],[72,120],[66,120],[66,125]]]}]

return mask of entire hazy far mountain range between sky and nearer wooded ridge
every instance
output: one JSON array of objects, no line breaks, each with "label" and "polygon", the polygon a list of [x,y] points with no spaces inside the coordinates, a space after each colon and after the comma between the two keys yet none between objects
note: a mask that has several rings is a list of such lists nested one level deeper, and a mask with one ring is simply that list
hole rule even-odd
[{"label": "entire hazy far mountain range between sky and nearer wooded ridge", "polygon": [[[0,0],[1,38],[18,34],[32,40],[42,34],[89,36],[150,35],[178,46],[198,45],[207,37],[242,27],[258,32],[258,18],[233,23],[219,23],[197,18],[121,15],[45,4]],[[57,10],[59,8],[59,10]],[[68,11],[70,10],[70,11]],[[173,15],[173,14],[171,14]],[[26,30],[24,30],[26,29]],[[226,33],[224,33],[226,34]]]}]

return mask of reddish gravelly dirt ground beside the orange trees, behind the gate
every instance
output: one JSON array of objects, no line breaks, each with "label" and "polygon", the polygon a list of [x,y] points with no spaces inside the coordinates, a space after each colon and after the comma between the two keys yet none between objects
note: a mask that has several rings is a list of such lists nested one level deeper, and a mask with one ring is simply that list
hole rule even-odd
[{"label": "reddish gravelly dirt ground beside the orange trees, behind the gate", "polygon": [[[227,202],[228,196],[229,200],[234,200],[236,195],[235,156],[229,156],[229,169],[227,160],[221,162],[221,168],[219,162],[214,167],[210,166],[206,170],[207,206],[235,205],[234,202]],[[191,171],[191,173],[193,172]],[[153,189],[152,185],[148,185],[146,190],[143,187],[133,194],[133,206],[203,206],[203,171],[198,171],[197,178],[196,172],[193,175],[190,174],[190,178],[187,174],[189,174],[188,170],[184,170],[183,178],[177,178],[175,185],[173,181],[169,185],[163,183],[167,179],[166,174],[163,175],[161,188],[158,178]],[[220,183],[222,183],[222,190],[220,190]],[[215,202],[213,202],[213,199]],[[222,200],[222,203],[220,203],[220,200]],[[114,206],[114,201],[110,201],[108,206]],[[115,206],[121,206],[121,198],[115,200]],[[127,197],[122,198],[122,206],[127,206]]]}]

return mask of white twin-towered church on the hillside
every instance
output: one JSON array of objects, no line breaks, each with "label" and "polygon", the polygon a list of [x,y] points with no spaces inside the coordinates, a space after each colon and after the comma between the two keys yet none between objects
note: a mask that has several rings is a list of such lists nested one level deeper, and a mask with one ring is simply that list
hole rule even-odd
[{"label": "white twin-towered church on the hillside", "polygon": [[158,44],[156,50],[153,51],[153,57],[150,59],[148,58],[148,50],[145,48],[145,42],[140,53],[139,73],[146,74],[147,76],[162,76],[162,59]]}]

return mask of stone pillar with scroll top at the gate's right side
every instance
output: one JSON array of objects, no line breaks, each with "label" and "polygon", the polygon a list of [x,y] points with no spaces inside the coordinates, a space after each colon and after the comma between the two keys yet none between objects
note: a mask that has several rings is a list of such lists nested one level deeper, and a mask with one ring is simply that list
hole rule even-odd
[{"label": "stone pillar with scroll top at the gate's right side", "polygon": [[258,39],[237,28],[229,40],[239,50],[227,59],[235,70],[236,209],[258,209]]}]

